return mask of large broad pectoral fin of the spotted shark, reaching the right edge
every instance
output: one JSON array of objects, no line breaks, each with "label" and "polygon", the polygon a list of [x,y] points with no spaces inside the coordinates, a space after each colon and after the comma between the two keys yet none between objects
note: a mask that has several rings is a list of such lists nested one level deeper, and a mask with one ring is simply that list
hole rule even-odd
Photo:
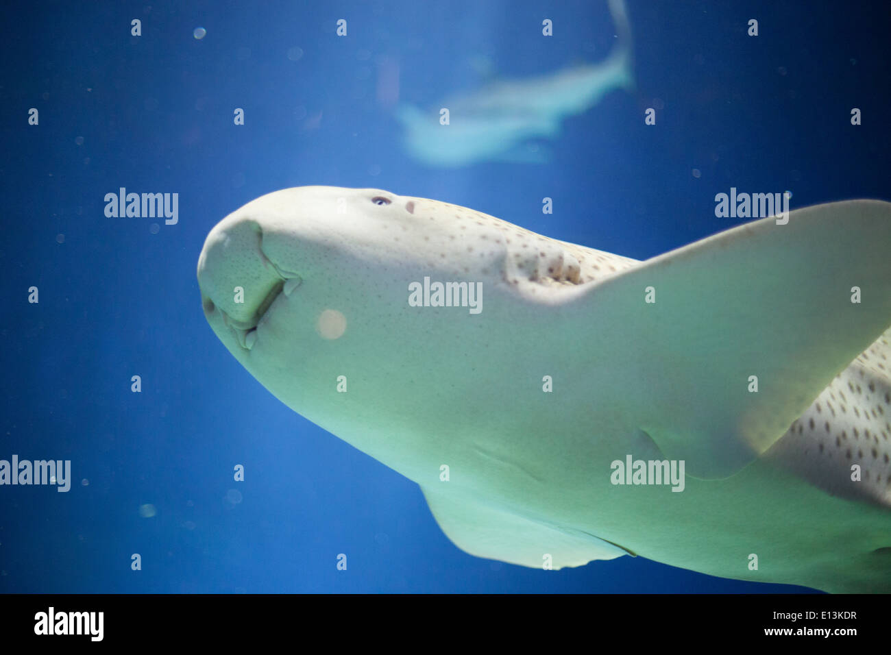
[{"label": "large broad pectoral fin of the spotted shark, reaching the right edge", "polygon": [[666,457],[693,477],[723,478],[764,454],[891,325],[889,243],[891,203],[833,202],[551,300],[598,325],[586,336],[602,344],[593,364],[634,389],[615,402],[635,405]]}]

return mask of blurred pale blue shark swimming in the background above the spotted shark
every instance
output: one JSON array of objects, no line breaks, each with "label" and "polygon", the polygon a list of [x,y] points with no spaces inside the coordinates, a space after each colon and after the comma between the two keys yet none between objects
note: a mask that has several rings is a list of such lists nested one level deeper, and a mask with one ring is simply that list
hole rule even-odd
[{"label": "blurred pale blue shark swimming in the background above the spotted shark", "polygon": [[546,163],[546,153],[529,139],[554,138],[560,121],[587,111],[613,89],[631,88],[631,30],[624,0],[609,0],[618,43],[605,61],[583,64],[550,75],[504,80],[472,94],[453,96],[440,110],[412,104],[396,109],[404,127],[405,150],[429,166],[456,168],[478,161]]}]

